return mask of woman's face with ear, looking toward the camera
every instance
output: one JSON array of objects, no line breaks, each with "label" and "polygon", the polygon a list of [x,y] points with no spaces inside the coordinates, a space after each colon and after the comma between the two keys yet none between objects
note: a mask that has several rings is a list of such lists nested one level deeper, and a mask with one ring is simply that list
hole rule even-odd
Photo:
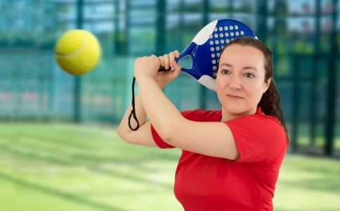
[{"label": "woman's face with ear, looking toward the camera", "polygon": [[271,80],[264,82],[264,64],[263,53],[252,46],[233,44],[223,51],[216,92],[225,112],[237,115],[256,110]]}]

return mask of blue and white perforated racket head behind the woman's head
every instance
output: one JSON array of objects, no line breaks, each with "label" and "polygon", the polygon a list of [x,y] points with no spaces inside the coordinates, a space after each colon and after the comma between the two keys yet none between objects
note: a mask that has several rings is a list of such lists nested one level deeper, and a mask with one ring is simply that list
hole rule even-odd
[{"label": "blue and white perforated racket head behind the woman's head", "polygon": [[192,57],[192,68],[182,68],[181,71],[194,77],[205,87],[216,90],[216,72],[221,51],[237,37],[257,39],[247,25],[237,20],[221,19],[207,24],[178,58],[179,60],[187,55]]}]

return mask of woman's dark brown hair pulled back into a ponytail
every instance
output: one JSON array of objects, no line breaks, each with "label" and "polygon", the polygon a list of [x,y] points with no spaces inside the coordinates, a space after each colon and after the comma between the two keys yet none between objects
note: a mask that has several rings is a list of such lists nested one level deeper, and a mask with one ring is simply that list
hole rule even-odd
[{"label": "woman's dark brown hair pulled back into a ponytail", "polygon": [[[241,46],[252,46],[255,49],[259,49],[259,51],[263,53],[263,56],[265,58],[264,69],[266,71],[264,81],[267,82],[270,77],[272,78],[272,81],[270,82],[267,91],[263,94],[261,101],[259,102],[259,106],[261,107],[261,110],[263,110],[263,113],[265,113],[266,115],[272,115],[277,117],[277,120],[280,121],[282,127],[285,129],[285,132],[287,134],[287,140],[289,140],[287,126],[280,105],[281,102],[280,94],[279,91],[277,91],[274,82],[272,51],[270,51],[270,49],[268,49],[268,47],[265,44],[263,44],[262,41],[259,41],[259,39],[254,39],[252,37],[239,37],[237,39],[233,39],[228,43],[228,45],[224,47],[223,51],[227,49],[228,46],[234,44],[238,44]],[[221,55],[223,51],[221,52]]]}]

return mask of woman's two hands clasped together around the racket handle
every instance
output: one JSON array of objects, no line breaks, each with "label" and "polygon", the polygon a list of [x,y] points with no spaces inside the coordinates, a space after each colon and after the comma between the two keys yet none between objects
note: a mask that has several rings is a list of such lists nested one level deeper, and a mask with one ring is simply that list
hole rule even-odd
[{"label": "woman's two hands clasped together around the racket handle", "polygon": [[[159,87],[163,88],[181,73],[181,66],[175,62],[175,58],[178,57],[179,52],[172,51],[169,54],[164,54],[159,57],[152,55],[136,58],[134,76],[136,79],[138,77],[152,77]],[[158,72],[161,66],[164,67],[166,71]]]}]

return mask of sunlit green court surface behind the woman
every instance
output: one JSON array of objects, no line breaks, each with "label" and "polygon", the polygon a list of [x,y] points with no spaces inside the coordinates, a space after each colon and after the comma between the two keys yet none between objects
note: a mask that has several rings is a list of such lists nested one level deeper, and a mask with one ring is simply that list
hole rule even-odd
[{"label": "sunlit green court surface behind the woman", "polygon": [[[183,210],[179,155],[124,143],[110,126],[3,123],[0,210]],[[339,175],[339,160],[287,155],[275,210],[340,210]]]}]

